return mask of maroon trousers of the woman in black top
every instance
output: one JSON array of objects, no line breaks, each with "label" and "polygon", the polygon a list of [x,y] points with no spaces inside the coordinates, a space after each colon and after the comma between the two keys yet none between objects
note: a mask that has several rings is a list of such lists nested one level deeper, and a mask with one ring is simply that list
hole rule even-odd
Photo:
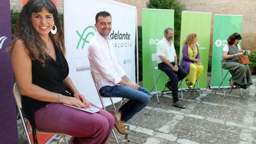
[{"label": "maroon trousers of the woman in black top", "polygon": [[104,144],[115,121],[109,112],[99,109],[97,113],[88,113],[51,103],[35,112],[36,129],[74,136],[75,144]]}]

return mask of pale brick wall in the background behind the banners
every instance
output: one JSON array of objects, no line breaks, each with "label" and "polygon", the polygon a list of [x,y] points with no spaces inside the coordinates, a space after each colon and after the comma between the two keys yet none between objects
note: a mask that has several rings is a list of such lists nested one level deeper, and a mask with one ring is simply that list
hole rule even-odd
[{"label": "pale brick wall in the background behind the banners", "polygon": [[[147,8],[149,0],[114,0],[137,6],[138,25],[142,23],[142,8]],[[212,37],[214,14],[243,15],[241,47],[256,52],[256,2],[255,0],[180,0],[186,5],[187,11],[212,13],[211,37],[210,37],[210,59],[212,52]],[[20,10],[22,0],[10,0],[11,9]],[[57,9],[63,13],[63,0],[57,0]]]}]

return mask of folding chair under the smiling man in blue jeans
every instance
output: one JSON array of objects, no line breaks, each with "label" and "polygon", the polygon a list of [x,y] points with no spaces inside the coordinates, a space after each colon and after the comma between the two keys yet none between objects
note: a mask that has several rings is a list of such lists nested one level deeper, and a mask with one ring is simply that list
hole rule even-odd
[{"label": "folding chair under the smiling man in blue jeans", "polygon": [[[100,100],[100,102],[101,102],[101,104],[102,104],[103,109],[106,111],[106,108],[105,108],[105,105],[104,105],[104,102],[103,102],[103,99],[102,99],[102,98],[109,98],[110,101],[111,101],[111,103],[112,103],[112,106],[113,106],[114,109],[115,109],[115,114],[114,114],[114,118],[115,118],[115,117],[116,117],[116,114],[117,114],[118,110],[120,109],[121,104],[123,103],[123,101],[124,101],[125,98],[122,98],[121,102],[120,102],[119,105],[118,105],[118,108],[116,109],[116,108],[115,108],[115,105],[114,105],[114,103],[113,103],[112,97],[103,97],[102,95],[100,95],[100,93],[99,93],[99,88],[98,88],[98,86],[97,86],[97,79],[96,79],[96,77],[95,77],[95,74],[94,74],[94,72],[93,72],[92,70],[90,70],[90,72],[91,72],[91,75],[92,75],[92,77],[93,77],[93,82],[94,82],[94,85],[95,85],[95,87],[96,87],[97,93],[98,93],[98,95],[99,95],[99,100]],[[129,125],[126,125],[126,127],[127,127],[127,130],[129,130],[129,127],[130,127],[130,126],[129,126]],[[124,140],[118,141],[118,140],[117,140],[117,137],[115,136],[115,132],[114,132],[113,129],[112,129],[112,132],[113,132],[113,135],[114,135],[114,137],[115,137],[115,141],[116,141],[118,144],[119,144],[119,143],[124,143],[125,141],[128,141],[128,142],[129,142],[128,134],[125,135]]]}]

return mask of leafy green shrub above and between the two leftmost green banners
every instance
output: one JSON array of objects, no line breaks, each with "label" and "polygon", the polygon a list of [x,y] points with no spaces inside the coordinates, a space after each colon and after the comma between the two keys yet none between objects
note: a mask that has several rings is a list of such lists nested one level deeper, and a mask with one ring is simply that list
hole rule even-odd
[{"label": "leafy green shrub above and between the two leftmost green banners", "polygon": [[174,10],[174,47],[179,57],[181,13],[183,10],[186,10],[186,6],[181,4],[179,0],[150,0],[147,3],[147,8]]}]

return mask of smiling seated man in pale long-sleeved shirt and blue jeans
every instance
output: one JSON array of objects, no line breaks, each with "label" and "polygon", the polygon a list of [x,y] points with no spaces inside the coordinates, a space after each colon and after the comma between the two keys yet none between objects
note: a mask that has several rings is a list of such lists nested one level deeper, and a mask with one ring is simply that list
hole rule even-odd
[{"label": "smiling seated man in pale long-sleeved shirt and blue jeans", "polygon": [[[115,127],[121,134],[128,134],[125,122],[141,111],[150,102],[149,91],[129,80],[115,56],[111,32],[111,15],[106,11],[97,13],[97,32],[90,40],[88,58],[95,73],[99,93],[104,97],[129,99],[122,105],[115,118]],[[112,115],[113,111],[110,112]]]}]

